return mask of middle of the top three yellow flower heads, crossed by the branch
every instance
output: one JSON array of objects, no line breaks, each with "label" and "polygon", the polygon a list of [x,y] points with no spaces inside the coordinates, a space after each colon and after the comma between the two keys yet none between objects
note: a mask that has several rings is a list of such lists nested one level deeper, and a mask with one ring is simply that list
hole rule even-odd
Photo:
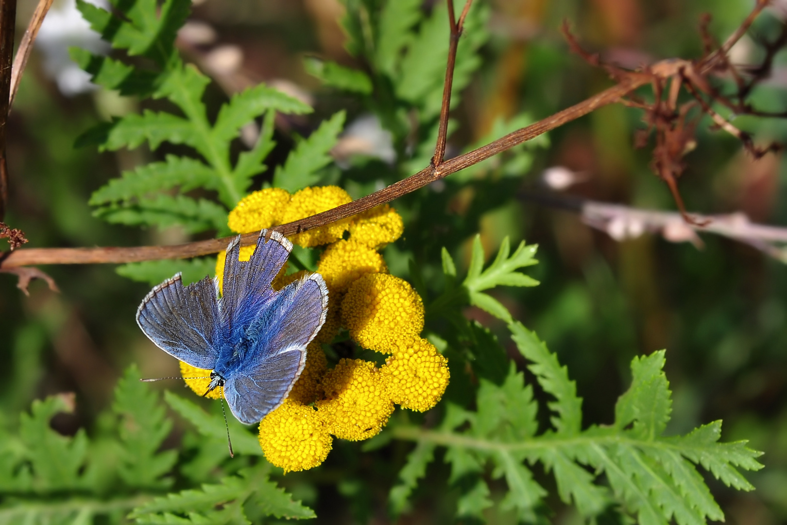
[{"label": "middle of the top three yellow flower heads, crossed by the branch", "polygon": [[[349,194],[338,186],[305,187],[290,198],[290,204],[286,205],[284,209],[282,224],[325,212],[352,200]],[[290,240],[305,248],[320,246],[342,238],[348,225],[349,219],[338,220],[313,230],[292,235]]]}]

